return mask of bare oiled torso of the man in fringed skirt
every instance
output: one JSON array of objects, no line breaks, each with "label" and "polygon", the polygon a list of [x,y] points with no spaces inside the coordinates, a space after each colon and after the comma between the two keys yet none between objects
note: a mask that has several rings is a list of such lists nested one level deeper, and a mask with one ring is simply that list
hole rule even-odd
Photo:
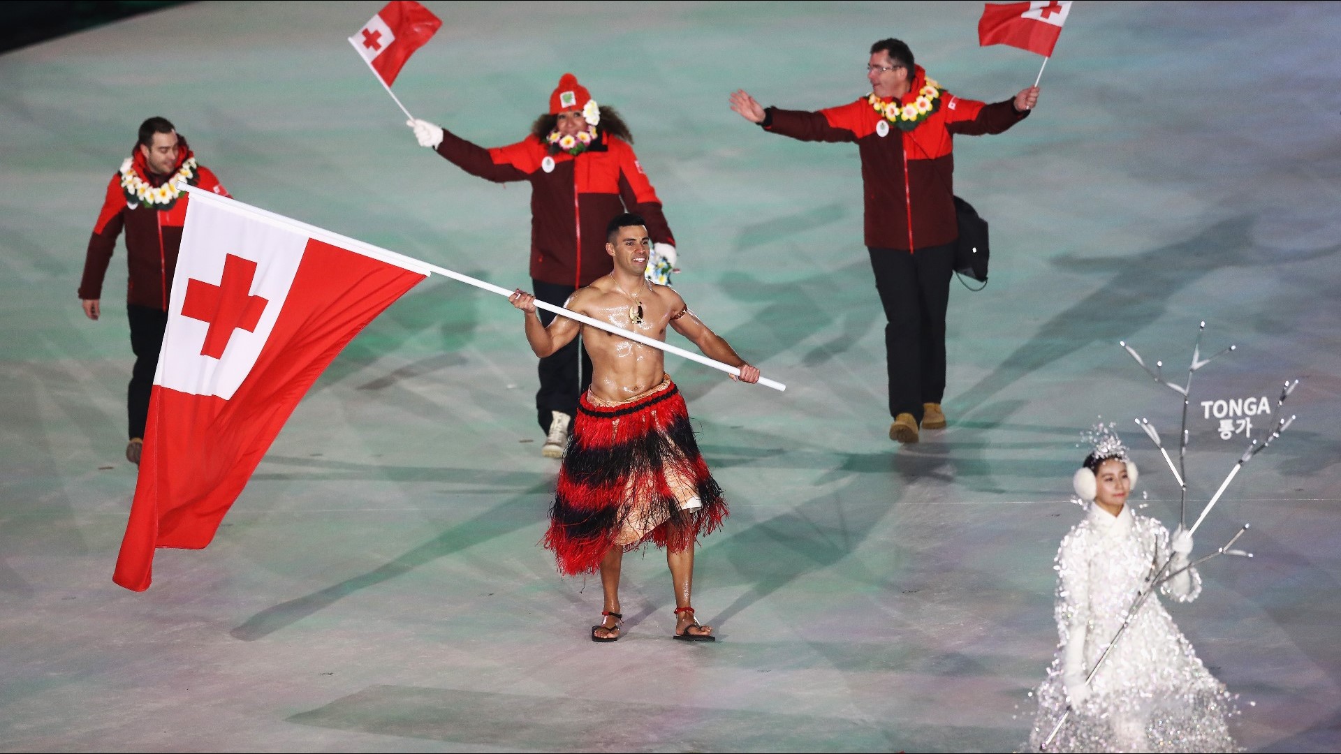
[{"label": "bare oiled torso of the man in fringed skirt", "polygon": [[[624,292],[610,276],[605,276],[575,292],[567,307],[616,327],[665,341],[670,318],[684,311],[684,299],[666,286],[650,283]],[[636,398],[665,378],[661,349],[587,325],[582,326],[582,343],[591,356],[591,393],[599,398]]]}]

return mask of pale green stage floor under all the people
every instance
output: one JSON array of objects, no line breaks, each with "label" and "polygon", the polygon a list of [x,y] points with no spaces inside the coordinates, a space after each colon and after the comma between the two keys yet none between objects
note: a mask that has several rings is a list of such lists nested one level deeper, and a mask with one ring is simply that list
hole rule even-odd
[{"label": "pale green stage floor under all the people", "polygon": [[[345,42],[380,3],[201,3],[0,56],[0,749],[1007,750],[1055,644],[1077,432],[1176,424],[1117,341],[1183,365],[1202,319],[1240,347],[1195,398],[1305,384],[1199,533],[1210,551],[1251,522],[1258,557],[1214,561],[1172,612],[1243,695],[1244,746],[1341,745],[1337,5],[1074,7],[1038,111],[956,144],[992,282],[955,284],[951,427],[911,448],[885,439],[854,148],[766,136],[725,99],[850,101],[885,35],[1006,98],[1039,59],[976,47],[980,4],[430,5],[447,25],[406,106],[507,144],[577,72],[637,137],[679,290],[790,385],[670,365],[732,502],[695,594],[723,641],[668,639],[654,551],[625,568],[628,636],[586,640],[598,585],[536,546],[555,464],[519,317],[441,279],[335,361],[209,549],[161,551],[146,593],[111,584],[134,483],[119,252],[102,322],[74,291],[142,118],[248,203],[526,282],[527,188],[417,148]],[[1243,443],[1192,429],[1204,500]],[[1176,522],[1126,436],[1147,513]]]}]

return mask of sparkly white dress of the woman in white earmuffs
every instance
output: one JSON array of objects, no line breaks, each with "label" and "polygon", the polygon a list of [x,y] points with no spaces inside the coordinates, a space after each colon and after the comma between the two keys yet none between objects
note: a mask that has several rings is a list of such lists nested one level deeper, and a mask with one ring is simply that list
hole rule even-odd
[{"label": "sparkly white dress of the woman in white earmuffs", "polygon": [[[1114,517],[1090,504],[1085,519],[1062,539],[1055,565],[1061,641],[1037,692],[1029,750],[1039,750],[1066,711],[1066,651],[1073,639],[1084,652],[1073,647],[1077,667],[1071,671],[1080,669],[1084,657],[1088,672],[1122,625],[1152,568],[1157,570],[1169,555],[1164,525],[1133,514],[1130,506]],[[1164,582],[1160,592],[1191,602],[1202,593],[1202,578],[1189,569]],[[1196,657],[1157,596],[1141,606],[1089,688],[1089,698],[1071,710],[1049,751],[1239,750],[1226,726],[1235,710],[1232,696]]]}]

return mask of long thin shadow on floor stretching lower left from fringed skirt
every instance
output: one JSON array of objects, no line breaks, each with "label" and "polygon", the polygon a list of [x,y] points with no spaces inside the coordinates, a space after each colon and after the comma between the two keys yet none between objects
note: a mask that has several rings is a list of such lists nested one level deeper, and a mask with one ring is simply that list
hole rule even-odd
[{"label": "long thin shadow on floor stretching lower left from fringed skirt", "polygon": [[339,584],[327,586],[311,594],[304,594],[272,608],[256,613],[245,623],[229,631],[229,636],[243,641],[264,639],[276,631],[288,628],[295,623],[323,610],[339,600],[367,589],[378,584],[404,576],[420,566],[430,563],[439,558],[460,553],[467,547],[481,545],[499,537],[506,537],[519,531],[539,521],[540,504],[538,500],[550,492],[552,482],[546,479],[536,482],[526,492],[516,495],[500,506],[495,506],[480,515],[459,523],[436,538],[425,542],[398,558],[384,563],[367,573],[346,578]]}]

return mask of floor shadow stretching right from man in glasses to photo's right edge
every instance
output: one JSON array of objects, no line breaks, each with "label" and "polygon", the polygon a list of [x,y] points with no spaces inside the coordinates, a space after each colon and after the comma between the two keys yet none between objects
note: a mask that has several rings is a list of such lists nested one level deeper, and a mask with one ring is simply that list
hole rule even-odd
[{"label": "floor shadow stretching right from man in glasses to photo's right edge", "polygon": [[[1092,343],[1117,342],[1149,326],[1168,310],[1168,301],[1202,278],[1224,267],[1269,267],[1330,256],[1341,246],[1313,251],[1279,251],[1254,246],[1254,217],[1232,217],[1188,240],[1120,258],[1061,256],[1058,267],[1112,274],[1088,297],[1053,317],[976,385],[955,396],[951,405],[968,416],[1022,377]],[[1114,357],[1116,358],[1116,357]]]}]

